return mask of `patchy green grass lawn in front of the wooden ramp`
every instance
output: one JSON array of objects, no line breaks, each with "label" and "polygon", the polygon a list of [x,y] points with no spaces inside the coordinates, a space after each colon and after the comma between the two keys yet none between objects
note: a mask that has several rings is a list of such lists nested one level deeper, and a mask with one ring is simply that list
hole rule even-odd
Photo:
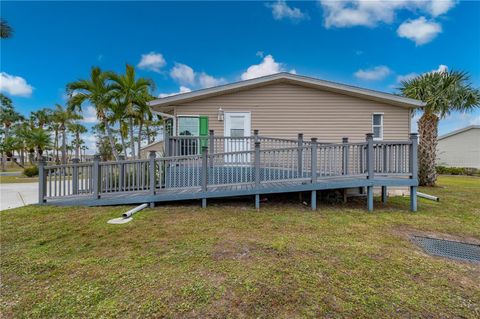
[{"label": "patchy green grass lawn in front of the wooden ramp", "polygon": [[479,318],[480,265],[409,234],[480,241],[480,178],[312,212],[270,199],[146,209],[25,207],[1,216],[2,317]]}]

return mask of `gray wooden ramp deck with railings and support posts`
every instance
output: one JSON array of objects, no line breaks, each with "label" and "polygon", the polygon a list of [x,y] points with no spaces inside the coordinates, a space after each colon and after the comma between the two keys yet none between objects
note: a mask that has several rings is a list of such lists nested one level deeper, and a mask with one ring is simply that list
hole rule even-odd
[{"label": "gray wooden ramp deck with railings and support posts", "polygon": [[40,165],[39,202],[47,205],[105,206],[201,200],[233,196],[367,189],[373,210],[373,187],[408,186],[416,210],[416,135],[405,142],[308,145],[156,158],[120,162]]}]

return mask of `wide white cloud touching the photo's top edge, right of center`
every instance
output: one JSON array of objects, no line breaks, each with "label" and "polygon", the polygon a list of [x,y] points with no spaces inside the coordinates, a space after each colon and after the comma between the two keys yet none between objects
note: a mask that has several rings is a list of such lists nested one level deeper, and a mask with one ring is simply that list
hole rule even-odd
[{"label": "wide white cloud touching the photo's top edge, right of center", "polygon": [[447,13],[455,0],[319,0],[323,8],[325,27],[374,27],[391,24],[400,10],[425,12],[432,17]]}]

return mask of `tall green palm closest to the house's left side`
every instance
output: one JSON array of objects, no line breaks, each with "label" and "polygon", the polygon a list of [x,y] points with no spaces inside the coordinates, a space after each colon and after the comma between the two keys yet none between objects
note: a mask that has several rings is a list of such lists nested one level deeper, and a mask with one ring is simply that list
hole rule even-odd
[{"label": "tall green palm closest to the house's left side", "polygon": [[[135,68],[128,64],[125,67],[125,75],[109,72],[108,78],[113,81],[112,87],[115,90],[116,96],[125,106],[125,112],[129,122],[130,154],[135,158],[134,123],[135,120],[143,116],[138,108],[146,104],[145,96],[148,90],[153,88],[153,82],[146,78],[135,79]],[[140,150],[138,151],[140,152]]]}]

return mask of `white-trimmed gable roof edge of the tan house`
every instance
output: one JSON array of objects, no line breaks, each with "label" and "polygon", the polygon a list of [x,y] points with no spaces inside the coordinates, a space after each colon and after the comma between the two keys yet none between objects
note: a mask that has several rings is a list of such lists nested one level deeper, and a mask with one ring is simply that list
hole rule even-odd
[{"label": "white-trimmed gable roof edge of the tan house", "polygon": [[217,96],[217,95],[232,93],[236,91],[243,91],[250,88],[260,87],[260,86],[264,86],[272,83],[291,83],[291,84],[303,85],[307,87],[365,98],[369,100],[385,102],[391,105],[407,107],[407,108],[417,108],[417,107],[425,106],[425,103],[422,101],[410,99],[410,98],[395,95],[395,94],[379,92],[379,91],[364,89],[356,86],[340,84],[336,82],[330,82],[330,81],[325,81],[325,80],[320,80],[316,78],[311,78],[311,77],[301,76],[301,75],[296,75],[291,73],[285,73],[285,72],[267,75],[267,76],[263,76],[263,77],[259,77],[251,80],[234,82],[234,83],[215,86],[207,89],[168,96],[168,97],[150,101],[149,105],[152,108],[158,109],[161,107],[172,106],[180,103],[192,102],[192,101],[204,99],[211,96]]}]

